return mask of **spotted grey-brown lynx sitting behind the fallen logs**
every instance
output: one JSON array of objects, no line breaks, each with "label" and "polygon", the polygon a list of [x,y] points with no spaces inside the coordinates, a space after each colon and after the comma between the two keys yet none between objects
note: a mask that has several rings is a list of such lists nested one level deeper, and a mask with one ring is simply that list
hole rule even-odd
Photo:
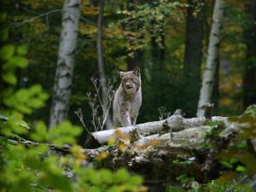
[{"label": "spotted grey-brown lynx sitting behind the fallen logs", "polygon": [[113,125],[136,125],[142,105],[141,74],[136,67],[130,72],[119,72],[121,84],[113,97]]}]

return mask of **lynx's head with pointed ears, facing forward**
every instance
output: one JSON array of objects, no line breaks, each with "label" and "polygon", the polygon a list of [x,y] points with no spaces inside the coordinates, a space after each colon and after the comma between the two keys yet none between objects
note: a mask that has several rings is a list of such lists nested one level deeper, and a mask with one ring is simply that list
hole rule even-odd
[{"label": "lynx's head with pointed ears, facing forward", "polygon": [[121,84],[125,93],[136,93],[141,86],[141,73],[139,67],[130,72],[119,72]]}]

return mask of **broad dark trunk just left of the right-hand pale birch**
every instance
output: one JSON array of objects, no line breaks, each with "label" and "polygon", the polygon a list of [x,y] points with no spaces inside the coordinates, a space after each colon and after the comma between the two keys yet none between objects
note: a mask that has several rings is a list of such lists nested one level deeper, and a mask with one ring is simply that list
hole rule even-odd
[{"label": "broad dark trunk just left of the right-hand pale birch", "polygon": [[185,58],[184,58],[184,84],[185,84],[185,105],[188,108],[188,116],[195,116],[197,102],[201,87],[201,59],[202,59],[202,40],[204,26],[204,5],[200,7],[200,12],[195,15],[195,9],[204,0],[188,0],[187,10],[187,29],[185,39]]}]

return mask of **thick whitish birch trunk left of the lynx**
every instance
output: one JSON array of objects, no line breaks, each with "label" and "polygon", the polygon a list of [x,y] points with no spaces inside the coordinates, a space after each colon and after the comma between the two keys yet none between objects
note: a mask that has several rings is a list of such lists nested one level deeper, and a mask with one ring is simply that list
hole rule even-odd
[{"label": "thick whitish birch trunk left of the lynx", "polygon": [[81,0],[65,0],[63,6],[61,39],[50,108],[49,127],[58,125],[67,118],[73,81],[73,55],[79,32],[80,5]]}]

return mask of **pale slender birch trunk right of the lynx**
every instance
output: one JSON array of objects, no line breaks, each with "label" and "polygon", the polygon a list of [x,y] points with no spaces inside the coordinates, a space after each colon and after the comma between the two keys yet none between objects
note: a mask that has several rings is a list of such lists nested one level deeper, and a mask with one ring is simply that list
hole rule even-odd
[{"label": "pale slender birch trunk right of the lynx", "polygon": [[214,73],[218,59],[218,44],[220,40],[221,21],[224,17],[224,0],[216,0],[213,15],[210,41],[207,49],[207,63],[201,85],[200,99],[197,106],[197,117],[204,115],[204,106],[211,102]]}]

